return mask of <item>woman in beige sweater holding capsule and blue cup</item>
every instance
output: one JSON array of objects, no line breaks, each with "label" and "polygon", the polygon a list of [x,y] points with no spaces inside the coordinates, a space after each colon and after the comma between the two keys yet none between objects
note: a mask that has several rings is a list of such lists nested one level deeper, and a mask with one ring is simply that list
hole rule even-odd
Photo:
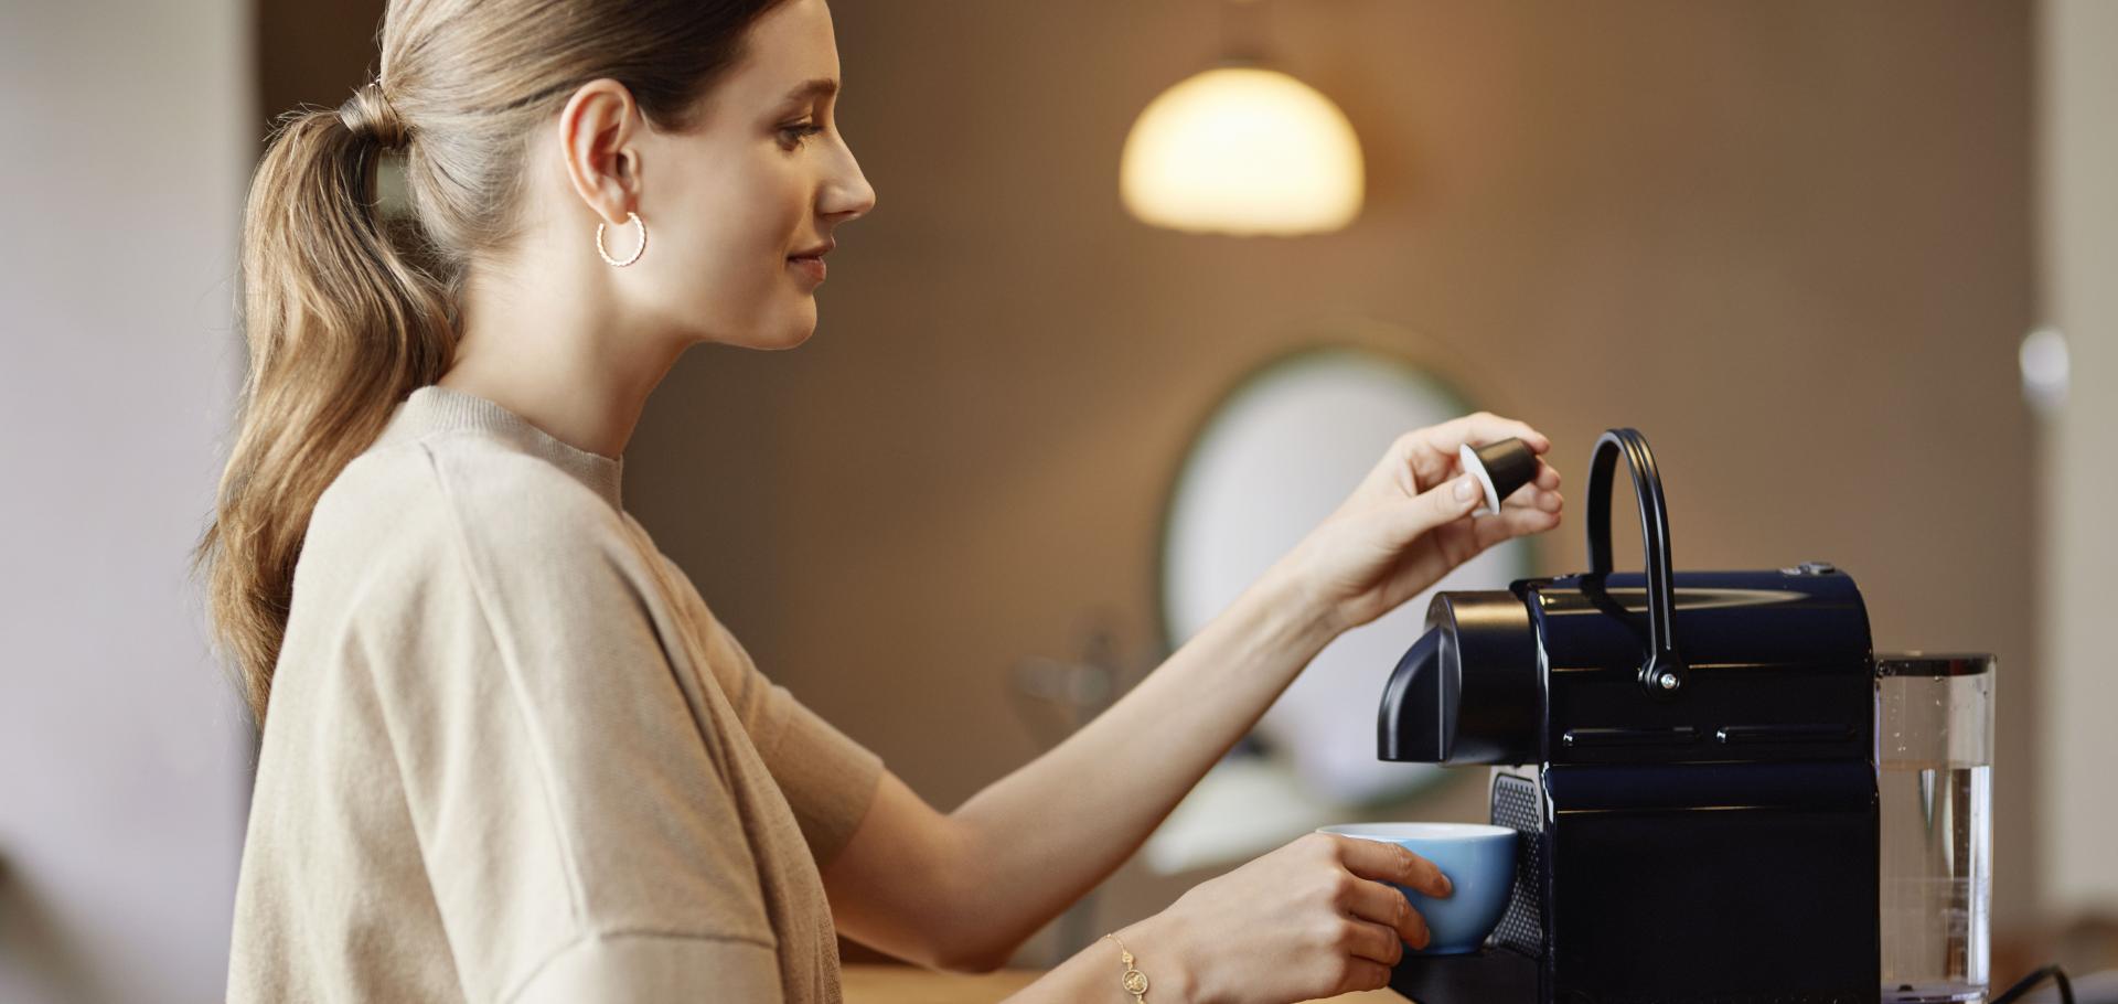
[{"label": "woman in beige sweater holding capsule and blue cup", "polygon": [[[832,231],[875,205],[837,85],[824,0],[396,0],[379,80],[284,121],[199,544],[265,729],[235,1000],[828,1002],[834,932],[1000,966],[1336,633],[1557,525],[1550,468],[1483,517],[1451,470],[1536,430],[1406,434],[1108,714],[934,811],[765,680],[618,498],[686,347],[811,335]],[[415,229],[373,214],[381,150]],[[1307,837],[1112,940],[1156,1004],[1379,987],[1425,940],[1385,881],[1447,894]],[[1137,1000],[1114,943],[1021,1000]]]}]

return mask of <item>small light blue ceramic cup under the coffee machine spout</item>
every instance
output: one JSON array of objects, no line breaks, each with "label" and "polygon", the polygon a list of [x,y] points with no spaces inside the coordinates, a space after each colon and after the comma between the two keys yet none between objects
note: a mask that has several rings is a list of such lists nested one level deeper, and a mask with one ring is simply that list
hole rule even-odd
[{"label": "small light blue ceramic cup under the coffee machine spout", "polygon": [[1324,826],[1317,832],[1396,843],[1442,868],[1453,892],[1432,898],[1404,890],[1413,909],[1428,919],[1428,947],[1406,955],[1466,955],[1485,945],[1508,911],[1508,890],[1514,888],[1514,830],[1470,822],[1349,822]]}]

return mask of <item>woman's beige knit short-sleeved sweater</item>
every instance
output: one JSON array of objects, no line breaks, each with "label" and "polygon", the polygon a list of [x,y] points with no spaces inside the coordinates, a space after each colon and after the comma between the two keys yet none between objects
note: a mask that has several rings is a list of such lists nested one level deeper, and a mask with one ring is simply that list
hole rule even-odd
[{"label": "woman's beige knit short-sleeved sweater", "polygon": [[758,674],[621,460],[432,386],[316,506],[229,998],[837,1002],[881,760]]}]

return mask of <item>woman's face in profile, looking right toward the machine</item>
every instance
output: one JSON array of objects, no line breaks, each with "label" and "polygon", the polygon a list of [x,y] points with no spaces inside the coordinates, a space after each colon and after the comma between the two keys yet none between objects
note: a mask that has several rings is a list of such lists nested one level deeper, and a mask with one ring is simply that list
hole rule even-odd
[{"label": "woman's face in profile, looking right toward the machine", "polygon": [[[752,25],[693,129],[638,133],[648,248],[627,271],[646,273],[635,290],[652,326],[754,349],[809,339],[824,273],[815,254],[875,208],[832,116],[837,89],[830,8],[788,0]],[[631,229],[610,231],[623,261]]]}]

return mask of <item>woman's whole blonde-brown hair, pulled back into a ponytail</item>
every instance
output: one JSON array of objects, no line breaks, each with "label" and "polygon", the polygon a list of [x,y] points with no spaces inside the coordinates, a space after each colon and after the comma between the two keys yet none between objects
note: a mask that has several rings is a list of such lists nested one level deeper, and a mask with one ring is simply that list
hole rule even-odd
[{"label": "woman's whole blonde-brown hair, pulled back into a ponytail", "polygon": [[[606,76],[657,127],[690,129],[777,2],[392,0],[377,80],[273,123],[244,208],[250,366],[193,551],[261,727],[316,500],[405,396],[447,373],[470,261],[517,235],[534,129]],[[392,150],[411,212],[385,218],[375,174]]]}]

